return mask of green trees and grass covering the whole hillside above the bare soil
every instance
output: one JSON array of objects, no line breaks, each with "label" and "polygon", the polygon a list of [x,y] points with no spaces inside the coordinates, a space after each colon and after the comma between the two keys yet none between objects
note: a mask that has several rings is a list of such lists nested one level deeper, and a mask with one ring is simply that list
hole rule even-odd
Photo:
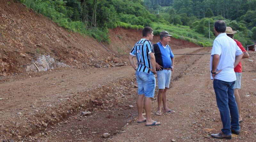
[{"label": "green trees and grass covering the whole hillside above the bare soil", "polygon": [[[249,45],[256,40],[256,0],[15,0],[73,32],[110,42],[108,29],[117,26],[155,34],[168,30],[174,38],[211,46],[213,23],[224,20]],[[7,4],[10,4],[7,3]],[[210,24],[210,38],[209,38]]]}]

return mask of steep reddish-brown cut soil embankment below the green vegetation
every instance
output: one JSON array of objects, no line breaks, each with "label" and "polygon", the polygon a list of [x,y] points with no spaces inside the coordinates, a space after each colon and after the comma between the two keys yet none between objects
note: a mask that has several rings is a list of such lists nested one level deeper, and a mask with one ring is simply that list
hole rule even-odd
[{"label": "steep reddish-brown cut soil embankment below the green vegetation", "polygon": [[[55,61],[75,68],[127,65],[122,55],[126,55],[142,36],[141,30],[110,29],[111,43],[103,43],[106,49],[91,37],[68,32],[26,6],[10,2],[8,5],[1,0],[0,5],[0,76],[31,71],[28,65],[42,55],[50,55]],[[155,36],[153,43],[158,41],[159,36]],[[170,45],[172,48],[200,47],[173,38]],[[111,58],[106,61],[108,57]]]}]

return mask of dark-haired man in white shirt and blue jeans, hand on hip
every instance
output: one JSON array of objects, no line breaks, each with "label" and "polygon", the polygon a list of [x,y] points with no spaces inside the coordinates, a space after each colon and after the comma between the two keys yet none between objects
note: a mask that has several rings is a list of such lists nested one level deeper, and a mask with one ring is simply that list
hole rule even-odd
[{"label": "dark-haired man in white shirt and blue jeans, hand on hip", "polygon": [[243,52],[225,31],[224,21],[218,20],[214,23],[216,38],[213,41],[210,70],[223,128],[220,133],[211,136],[231,139],[231,133],[240,133],[238,108],[234,96],[234,67],[241,61]]}]

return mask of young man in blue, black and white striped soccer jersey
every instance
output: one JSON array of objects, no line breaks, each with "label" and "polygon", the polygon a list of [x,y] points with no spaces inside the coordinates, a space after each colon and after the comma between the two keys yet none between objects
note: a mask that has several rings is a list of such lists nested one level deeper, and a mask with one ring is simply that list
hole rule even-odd
[{"label": "young man in blue, black and white striped soccer jersey", "polygon": [[[136,71],[136,79],[138,83],[138,123],[146,122],[146,126],[160,125],[160,122],[151,119],[151,100],[154,98],[156,88],[156,59],[153,49],[153,29],[145,27],[142,30],[143,38],[136,42],[129,55],[129,61],[133,69]],[[134,57],[137,58],[136,66]],[[146,118],[142,115],[143,100],[145,96]]]}]

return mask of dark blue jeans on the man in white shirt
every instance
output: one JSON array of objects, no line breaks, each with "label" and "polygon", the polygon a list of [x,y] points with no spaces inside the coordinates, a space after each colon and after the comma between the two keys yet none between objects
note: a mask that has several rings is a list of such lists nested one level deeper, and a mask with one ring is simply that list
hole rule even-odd
[{"label": "dark blue jeans on the man in white shirt", "polygon": [[231,135],[230,127],[235,131],[240,130],[238,108],[234,96],[234,84],[235,81],[226,82],[219,79],[213,80],[213,88],[223,125],[221,131],[226,135]]}]

